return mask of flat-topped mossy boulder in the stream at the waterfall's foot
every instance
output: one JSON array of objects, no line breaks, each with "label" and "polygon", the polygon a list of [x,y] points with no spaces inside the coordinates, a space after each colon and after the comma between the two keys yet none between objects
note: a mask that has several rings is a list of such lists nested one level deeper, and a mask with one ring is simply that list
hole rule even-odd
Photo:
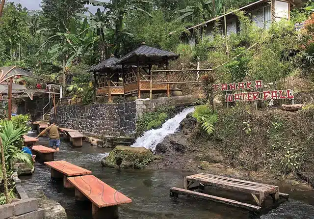
[{"label": "flat-topped mossy boulder in the stream at the waterfall's foot", "polygon": [[113,168],[143,169],[152,161],[153,153],[144,147],[116,146],[103,163]]}]

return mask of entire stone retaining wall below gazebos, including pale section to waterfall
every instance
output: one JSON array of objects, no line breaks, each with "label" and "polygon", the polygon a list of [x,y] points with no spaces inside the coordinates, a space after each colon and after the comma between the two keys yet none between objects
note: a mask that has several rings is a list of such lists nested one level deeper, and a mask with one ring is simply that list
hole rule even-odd
[{"label": "entire stone retaining wall below gazebos, including pale section to waterfall", "polygon": [[130,136],[135,132],[137,118],[143,113],[155,111],[161,106],[195,105],[199,99],[199,95],[193,95],[139,99],[120,104],[59,106],[56,115],[52,109],[51,117],[59,126],[78,130],[88,136]]}]

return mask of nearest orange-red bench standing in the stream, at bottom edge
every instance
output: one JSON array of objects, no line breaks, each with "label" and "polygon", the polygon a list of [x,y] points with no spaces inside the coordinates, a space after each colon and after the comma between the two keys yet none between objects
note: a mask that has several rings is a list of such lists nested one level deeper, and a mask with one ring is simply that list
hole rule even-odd
[{"label": "nearest orange-red bench standing in the stream, at bottom edge", "polygon": [[70,177],[68,180],[75,187],[76,200],[88,198],[92,202],[93,219],[118,219],[118,205],[132,202],[93,175]]}]

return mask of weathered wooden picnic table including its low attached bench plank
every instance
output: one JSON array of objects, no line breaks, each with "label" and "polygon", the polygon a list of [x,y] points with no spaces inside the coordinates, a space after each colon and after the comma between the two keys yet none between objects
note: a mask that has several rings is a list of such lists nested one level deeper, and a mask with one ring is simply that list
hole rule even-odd
[{"label": "weathered wooden picnic table including its low attached bench plank", "polygon": [[[171,188],[170,195],[171,196],[177,196],[178,194],[191,195],[207,200],[225,203],[236,207],[241,207],[251,211],[259,211],[260,209],[262,209],[262,207],[264,207],[265,204],[266,196],[270,195],[272,197],[273,204],[278,203],[280,196],[278,186],[250,182],[224,176],[217,176],[208,173],[199,173],[184,177],[183,184],[184,189]],[[237,192],[247,192],[253,196],[255,202],[257,203],[257,206],[238,202],[227,198],[190,191],[193,188],[196,188],[195,186],[196,187],[213,186],[216,188],[232,190]],[[282,196],[288,198],[287,194],[282,194]]]}]

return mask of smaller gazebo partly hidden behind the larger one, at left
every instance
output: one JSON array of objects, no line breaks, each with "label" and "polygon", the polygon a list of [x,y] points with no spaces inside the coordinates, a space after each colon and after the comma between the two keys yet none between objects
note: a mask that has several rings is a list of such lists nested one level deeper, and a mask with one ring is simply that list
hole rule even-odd
[{"label": "smaller gazebo partly hidden behind the larger one, at left", "polygon": [[108,102],[111,102],[112,95],[123,95],[122,66],[115,65],[118,58],[111,57],[98,65],[90,68],[94,72],[96,85],[96,97],[108,96]]}]

